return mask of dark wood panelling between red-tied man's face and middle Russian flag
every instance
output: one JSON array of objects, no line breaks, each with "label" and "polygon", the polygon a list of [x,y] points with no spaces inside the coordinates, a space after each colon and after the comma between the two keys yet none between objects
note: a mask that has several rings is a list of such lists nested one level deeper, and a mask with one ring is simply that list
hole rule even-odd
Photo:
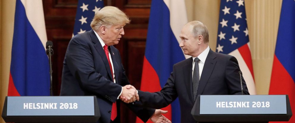
[{"label": "dark wood panelling between red-tied man's face and middle Russian flag", "polygon": [[[131,20],[124,27],[125,35],[123,42],[120,42],[122,44],[118,45],[123,46],[120,53],[129,81],[136,89],[140,89],[151,0],[112,0],[110,4],[123,10]],[[121,121],[134,123],[135,120],[136,115],[122,105]]]}]

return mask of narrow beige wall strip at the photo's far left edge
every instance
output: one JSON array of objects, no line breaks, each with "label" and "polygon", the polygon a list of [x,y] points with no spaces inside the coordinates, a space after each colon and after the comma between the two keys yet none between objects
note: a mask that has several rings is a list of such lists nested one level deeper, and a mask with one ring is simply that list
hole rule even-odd
[{"label": "narrow beige wall strip at the photo's far left edge", "polygon": [[[0,1],[0,114],[2,113],[3,102],[7,95],[11,46],[13,36],[15,0]],[[13,14],[12,14],[13,13]],[[1,118],[1,123],[4,120]]]}]

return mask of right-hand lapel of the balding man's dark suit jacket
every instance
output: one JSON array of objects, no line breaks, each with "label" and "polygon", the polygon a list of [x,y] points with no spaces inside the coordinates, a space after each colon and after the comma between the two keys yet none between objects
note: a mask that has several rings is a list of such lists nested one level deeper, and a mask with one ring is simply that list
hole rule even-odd
[{"label": "right-hand lapel of the balding man's dark suit jacket", "polygon": [[210,49],[208,56],[206,58],[204,67],[203,67],[203,71],[202,71],[202,75],[200,78],[200,83],[199,83],[199,87],[198,87],[198,92],[197,95],[201,95],[205,89],[205,86],[208,82],[208,79],[210,78],[213,68],[216,64],[216,56],[214,54],[214,52]]}]

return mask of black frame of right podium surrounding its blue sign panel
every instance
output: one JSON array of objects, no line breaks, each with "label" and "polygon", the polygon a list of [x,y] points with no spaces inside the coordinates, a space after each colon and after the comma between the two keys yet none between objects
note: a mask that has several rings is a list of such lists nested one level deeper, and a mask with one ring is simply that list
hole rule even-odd
[{"label": "black frame of right podium surrounding its blue sign panel", "polygon": [[[201,100],[201,95],[198,95],[197,100],[194,104],[194,107],[192,109],[192,116],[197,122],[269,122],[269,121],[289,121],[289,119],[292,116],[292,111],[291,111],[291,106],[290,106],[290,101],[288,98],[288,95],[283,95],[285,96],[285,108],[286,108],[286,113],[285,114],[235,114],[235,113],[227,113],[227,114],[200,114],[200,100]],[[209,96],[209,95],[206,95]],[[217,96],[217,95],[216,95]],[[219,95],[222,96],[222,95]],[[230,95],[227,95],[230,96]],[[246,95],[240,95],[240,96],[246,96]],[[255,95],[247,95],[249,99],[251,99],[251,96]],[[261,96],[268,96],[268,95],[261,95]],[[247,99],[246,99],[247,100]],[[274,99],[275,100],[275,99]],[[250,102],[251,103],[251,102]],[[216,102],[215,107],[220,107],[220,102]],[[225,103],[224,103],[225,104]],[[226,103],[227,104],[227,103]],[[233,103],[232,103],[233,104]],[[229,107],[228,105],[222,105],[223,109]],[[249,107],[251,107],[250,105]],[[215,108],[214,107],[214,108]],[[233,106],[232,106],[233,107]],[[203,107],[208,108],[207,107]],[[246,108],[241,108],[242,110]]]}]

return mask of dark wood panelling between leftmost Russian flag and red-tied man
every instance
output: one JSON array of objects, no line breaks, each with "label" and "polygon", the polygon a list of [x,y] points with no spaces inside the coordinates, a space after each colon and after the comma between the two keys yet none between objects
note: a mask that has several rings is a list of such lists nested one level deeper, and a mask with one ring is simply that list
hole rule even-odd
[{"label": "dark wood panelling between leftmost Russian flag and red-tied man", "polygon": [[53,42],[52,57],[53,91],[59,95],[62,62],[72,38],[77,0],[43,0],[45,26],[48,40]]}]

